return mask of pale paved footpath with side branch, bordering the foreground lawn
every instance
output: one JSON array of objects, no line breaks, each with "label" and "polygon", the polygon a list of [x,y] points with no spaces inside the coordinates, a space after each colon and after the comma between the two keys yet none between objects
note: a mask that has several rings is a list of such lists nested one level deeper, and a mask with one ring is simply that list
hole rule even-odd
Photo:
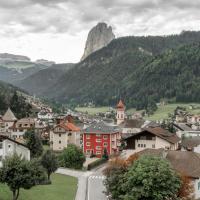
[{"label": "pale paved footpath with side branch, bordering the foreground lawn", "polygon": [[87,195],[87,179],[93,173],[90,171],[82,172],[66,168],[58,168],[58,174],[64,174],[78,178],[78,188],[75,200],[85,200]]}]

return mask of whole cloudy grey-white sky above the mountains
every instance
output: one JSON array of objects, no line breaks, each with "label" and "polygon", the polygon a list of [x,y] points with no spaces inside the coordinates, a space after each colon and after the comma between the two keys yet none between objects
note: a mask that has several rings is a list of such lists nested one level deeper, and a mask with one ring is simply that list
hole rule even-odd
[{"label": "whole cloudy grey-white sky above the mountains", "polygon": [[200,30],[200,0],[0,0],[0,53],[78,62],[89,30],[116,37]]}]

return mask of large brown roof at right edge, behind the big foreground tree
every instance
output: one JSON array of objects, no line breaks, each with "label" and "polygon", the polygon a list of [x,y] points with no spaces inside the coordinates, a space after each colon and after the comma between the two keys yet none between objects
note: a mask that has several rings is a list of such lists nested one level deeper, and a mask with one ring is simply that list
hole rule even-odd
[{"label": "large brown roof at right edge, behind the big foreground tree", "polygon": [[166,158],[178,172],[191,178],[200,177],[200,154],[192,151],[165,151],[164,149],[145,149],[138,155],[153,155]]}]

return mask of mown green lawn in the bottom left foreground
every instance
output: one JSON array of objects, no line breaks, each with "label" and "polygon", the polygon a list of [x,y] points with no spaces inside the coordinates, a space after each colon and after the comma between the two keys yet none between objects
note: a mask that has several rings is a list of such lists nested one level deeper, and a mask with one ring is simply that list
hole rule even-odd
[{"label": "mown green lawn in the bottom left foreground", "polygon": [[[20,190],[19,200],[74,200],[77,190],[77,179],[70,176],[53,174],[51,185]],[[6,185],[0,184],[0,200],[11,200],[12,193]]]}]

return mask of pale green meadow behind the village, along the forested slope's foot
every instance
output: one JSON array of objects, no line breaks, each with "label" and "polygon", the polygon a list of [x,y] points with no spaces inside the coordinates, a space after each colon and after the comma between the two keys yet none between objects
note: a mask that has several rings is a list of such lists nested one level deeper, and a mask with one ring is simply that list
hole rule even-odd
[{"label": "pale green meadow behind the village, along the forested slope's foot", "polygon": [[[190,109],[190,106],[193,106],[194,109]],[[151,115],[146,116],[145,119],[148,120],[160,120],[160,119],[166,119],[168,118],[169,113],[173,113],[177,106],[186,107],[186,110],[191,114],[200,114],[200,103],[174,103],[174,104],[167,104],[164,106],[158,106],[157,111]],[[88,114],[95,115],[98,112],[105,113],[106,111],[109,111],[109,107],[97,107],[97,108],[87,108],[87,107],[80,107],[76,108],[77,111],[80,112],[88,112]],[[135,108],[131,108],[129,110],[126,110],[127,114],[133,114],[134,112],[142,112],[142,111],[136,111]]]}]

